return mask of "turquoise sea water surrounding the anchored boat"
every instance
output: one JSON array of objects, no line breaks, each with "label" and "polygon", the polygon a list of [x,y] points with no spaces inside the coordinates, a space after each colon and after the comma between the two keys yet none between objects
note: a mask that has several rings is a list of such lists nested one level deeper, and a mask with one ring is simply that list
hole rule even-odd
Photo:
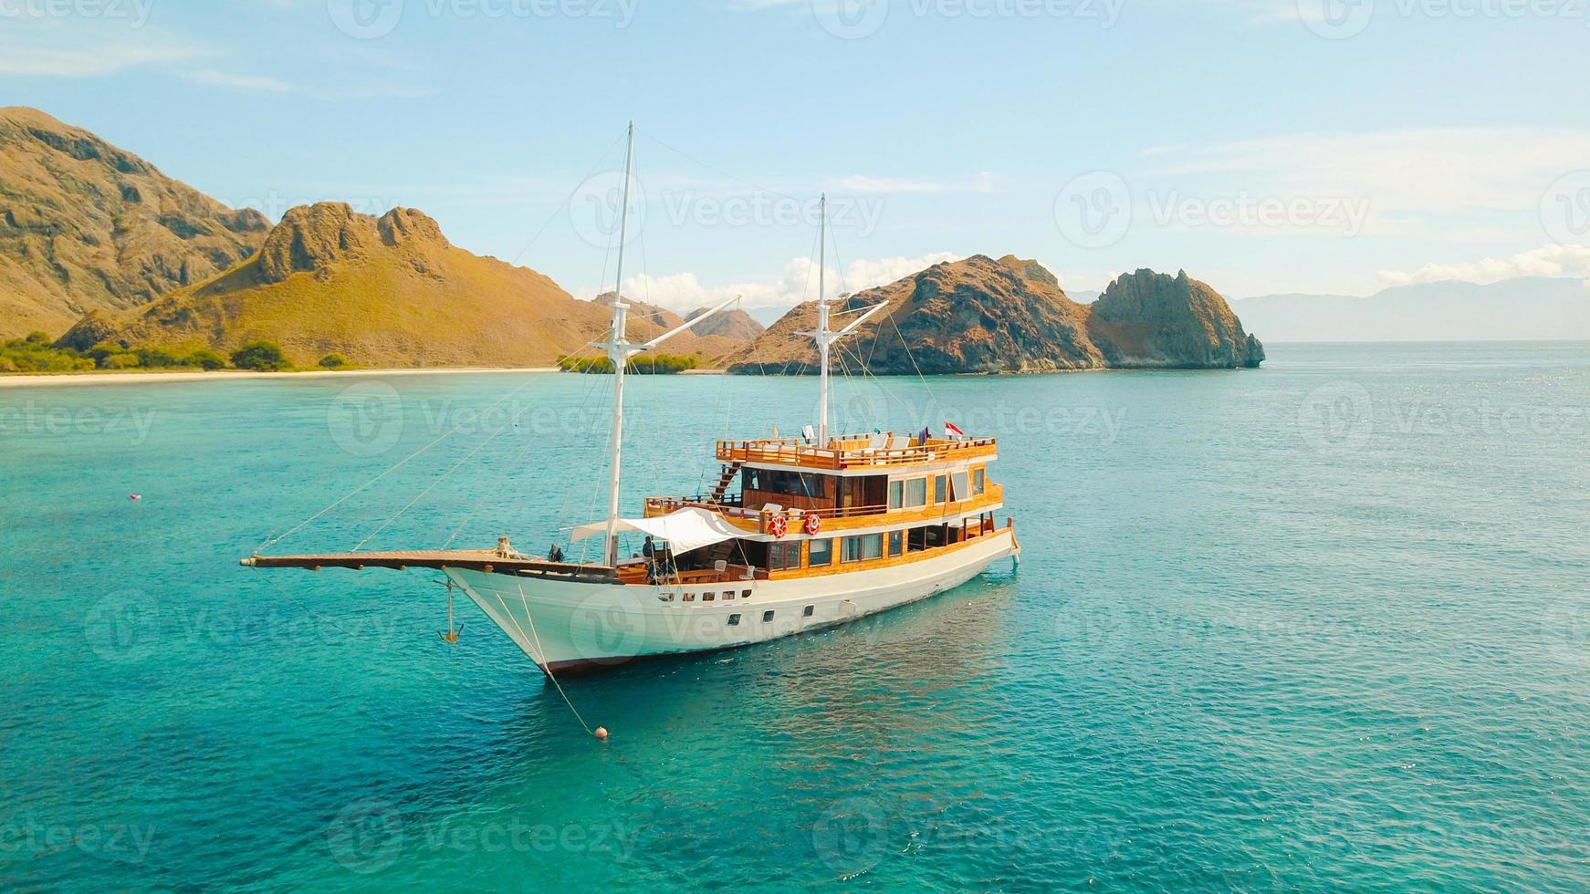
[{"label": "turquoise sea water surrounding the anchored boat", "polygon": [[[816,384],[631,383],[631,508]],[[544,551],[607,384],[0,389],[0,888],[1590,884],[1590,346],[843,381],[999,435],[1019,570],[566,681],[604,745],[428,572],[237,564],[453,429],[273,549]]]}]

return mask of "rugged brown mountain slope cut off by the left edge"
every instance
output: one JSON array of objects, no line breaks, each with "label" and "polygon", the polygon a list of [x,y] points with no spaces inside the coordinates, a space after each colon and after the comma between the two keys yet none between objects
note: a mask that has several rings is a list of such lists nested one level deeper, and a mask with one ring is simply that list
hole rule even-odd
[{"label": "rugged brown mountain slope cut off by the left edge", "polygon": [[269,221],[32,108],[0,108],[0,338],[215,276]]}]

